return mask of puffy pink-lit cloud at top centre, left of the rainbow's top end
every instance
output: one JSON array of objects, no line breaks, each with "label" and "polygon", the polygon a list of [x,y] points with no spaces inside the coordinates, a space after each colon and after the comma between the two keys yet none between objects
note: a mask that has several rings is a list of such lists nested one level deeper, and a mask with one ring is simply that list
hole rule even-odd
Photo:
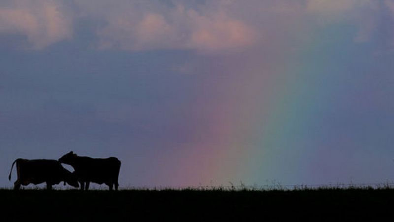
[{"label": "puffy pink-lit cloud at top centre, left of the rainbow's top end", "polygon": [[116,14],[107,19],[107,25],[98,31],[100,48],[213,51],[246,47],[256,39],[253,27],[220,8],[197,11],[178,4],[147,11],[139,18]]}]

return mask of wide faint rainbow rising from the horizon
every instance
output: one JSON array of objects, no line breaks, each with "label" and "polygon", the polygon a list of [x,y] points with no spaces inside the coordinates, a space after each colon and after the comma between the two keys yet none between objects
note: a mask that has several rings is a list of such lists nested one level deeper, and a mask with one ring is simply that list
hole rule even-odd
[{"label": "wide faint rainbow rising from the horizon", "polygon": [[185,177],[175,184],[340,182],[320,176],[314,159],[324,159],[327,146],[341,139],[325,122],[327,112],[344,105],[337,100],[344,87],[341,75],[349,68],[346,57],[357,53],[351,35],[345,34],[329,42],[316,37],[269,62],[261,56],[262,61],[252,63],[258,66],[222,78],[215,85],[221,96],[205,103],[209,111],[197,119],[211,123],[212,135],[191,145],[193,152],[180,168]]}]

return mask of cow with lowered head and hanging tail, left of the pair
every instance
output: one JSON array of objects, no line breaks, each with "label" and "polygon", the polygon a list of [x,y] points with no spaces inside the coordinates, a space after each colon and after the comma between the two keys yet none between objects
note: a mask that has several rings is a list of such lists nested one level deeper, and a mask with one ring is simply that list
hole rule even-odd
[{"label": "cow with lowered head and hanging tail, left of the pair", "polygon": [[64,185],[69,184],[78,188],[78,181],[75,173],[71,173],[57,160],[52,159],[16,159],[11,166],[8,180],[11,180],[11,173],[16,163],[18,179],[14,183],[14,190],[18,190],[21,185],[46,183],[47,189],[52,189],[52,185],[64,181]]}]

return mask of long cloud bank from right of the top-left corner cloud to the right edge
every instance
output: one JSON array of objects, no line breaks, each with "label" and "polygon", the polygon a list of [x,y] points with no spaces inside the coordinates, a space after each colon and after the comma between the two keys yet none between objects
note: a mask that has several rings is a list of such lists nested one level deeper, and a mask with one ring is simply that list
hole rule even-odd
[{"label": "long cloud bank from right of the top-left corner cloud to the right edge", "polygon": [[104,21],[97,29],[99,48],[133,51],[212,53],[286,45],[292,37],[308,39],[317,26],[336,23],[355,26],[354,41],[366,42],[376,31],[379,13],[373,0],[135,0],[116,5],[97,0],[96,6],[81,2],[84,16]]}]

